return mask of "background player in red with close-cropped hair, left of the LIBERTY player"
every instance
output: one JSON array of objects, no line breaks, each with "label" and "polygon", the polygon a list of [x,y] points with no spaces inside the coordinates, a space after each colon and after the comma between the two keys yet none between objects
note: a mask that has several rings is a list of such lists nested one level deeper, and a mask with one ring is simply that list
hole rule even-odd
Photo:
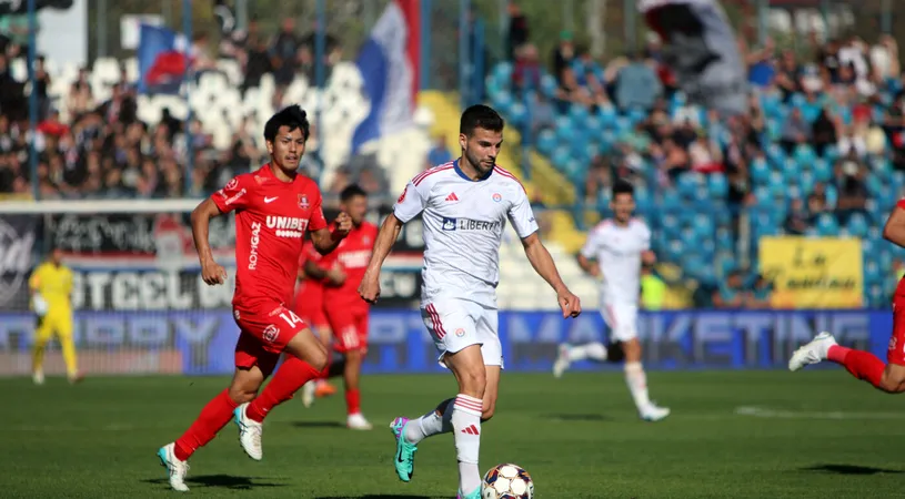
[{"label": "background player in red with close-cropped hair, left of the LIBERTY player", "polygon": [[[378,227],[365,222],[368,214],[368,193],[358,185],[350,185],[340,193],[340,207],[352,218],[352,230],[345,236],[336,251],[323,257],[320,263],[326,277],[329,273],[338,273],[343,278],[332,279],[323,286],[323,304],[330,329],[334,332],[333,349],[342,355],[342,360],[333,363],[328,369],[328,376],[342,376],[345,383],[345,426],[351,429],[370,430],[371,424],[361,414],[361,364],[368,353],[368,312],[370,306],[362,301],[358,293],[359,284],[368,268]],[[319,272],[319,269],[308,267]],[[318,275],[318,274],[315,274]],[[310,391],[309,385],[302,390]],[[303,397],[303,400],[308,396]]]}]

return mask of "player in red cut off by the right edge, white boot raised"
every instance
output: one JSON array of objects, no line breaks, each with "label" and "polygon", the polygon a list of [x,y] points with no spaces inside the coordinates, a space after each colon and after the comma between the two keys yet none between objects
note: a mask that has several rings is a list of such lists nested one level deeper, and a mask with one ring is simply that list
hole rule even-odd
[{"label": "player in red cut off by the right edge, white boot raised", "polygon": [[[905,247],[905,200],[901,200],[883,227],[883,237]],[[874,354],[836,344],[832,334],[823,332],[808,344],[795,350],[788,360],[788,370],[801,370],[823,360],[845,366],[852,376],[866,380],[889,394],[905,391],[905,277],[898,282],[893,296],[893,334],[886,350],[886,363]]]}]

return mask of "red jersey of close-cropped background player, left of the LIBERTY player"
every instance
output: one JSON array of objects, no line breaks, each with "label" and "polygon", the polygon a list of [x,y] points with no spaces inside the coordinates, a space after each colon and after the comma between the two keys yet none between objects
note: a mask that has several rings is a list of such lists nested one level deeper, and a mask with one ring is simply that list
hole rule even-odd
[{"label": "red jersey of close-cropped background player, left of the LIBERTY player", "polygon": [[345,273],[342,286],[324,285],[323,301],[328,308],[333,309],[339,305],[341,309],[368,309],[368,302],[359,296],[359,285],[368,269],[376,238],[376,225],[362,222],[358,227],[352,227],[333,253],[324,256],[321,266],[331,268],[339,262]]}]

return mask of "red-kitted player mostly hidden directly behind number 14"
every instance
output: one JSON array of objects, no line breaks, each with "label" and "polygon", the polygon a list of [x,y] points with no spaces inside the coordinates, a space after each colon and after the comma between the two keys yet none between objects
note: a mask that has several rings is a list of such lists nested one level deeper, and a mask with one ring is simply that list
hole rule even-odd
[{"label": "red-kitted player mostly hidden directly behind number 14", "polygon": [[[330,352],[330,343],[333,337],[330,324],[326,320],[323,306],[323,287],[325,284],[342,285],[345,274],[342,269],[324,268],[323,255],[314,249],[311,241],[302,246],[302,255],[299,258],[300,284],[295,291],[295,314],[314,328],[318,339]],[[330,369],[330,357],[328,356],[328,370]],[[314,397],[328,397],[336,393],[336,388],[328,383],[326,378],[319,378],[305,383],[302,387],[302,404],[311,407]]]}]

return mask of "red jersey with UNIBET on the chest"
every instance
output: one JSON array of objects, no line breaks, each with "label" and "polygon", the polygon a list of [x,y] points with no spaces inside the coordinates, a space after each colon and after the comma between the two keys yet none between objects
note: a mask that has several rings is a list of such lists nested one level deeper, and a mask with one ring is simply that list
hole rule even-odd
[{"label": "red jersey with UNIBET on the chest", "polygon": [[233,306],[289,303],[304,233],[326,227],[318,184],[304,175],[282,182],[267,164],[231,180],[211,200],[223,213],[235,210]]}]

